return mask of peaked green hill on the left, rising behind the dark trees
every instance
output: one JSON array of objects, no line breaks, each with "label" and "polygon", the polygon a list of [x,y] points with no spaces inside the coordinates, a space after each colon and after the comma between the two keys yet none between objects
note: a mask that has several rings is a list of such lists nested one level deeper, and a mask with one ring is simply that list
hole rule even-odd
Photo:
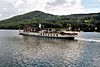
[{"label": "peaked green hill on the left, rising behind the dark trees", "polygon": [[50,22],[60,19],[59,16],[44,13],[41,11],[29,12],[23,15],[14,16],[0,21],[0,28],[3,29],[18,29],[25,25],[33,24],[37,26],[38,23]]}]

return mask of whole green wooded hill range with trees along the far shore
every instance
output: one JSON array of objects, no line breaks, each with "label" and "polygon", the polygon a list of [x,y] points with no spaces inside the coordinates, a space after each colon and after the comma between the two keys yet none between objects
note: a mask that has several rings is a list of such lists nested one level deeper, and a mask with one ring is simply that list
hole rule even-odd
[{"label": "whole green wooded hill range with trees along the far shore", "polygon": [[45,28],[71,28],[71,30],[100,31],[100,13],[52,15],[33,11],[0,21],[1,29],[19,29],[26,25]]}]

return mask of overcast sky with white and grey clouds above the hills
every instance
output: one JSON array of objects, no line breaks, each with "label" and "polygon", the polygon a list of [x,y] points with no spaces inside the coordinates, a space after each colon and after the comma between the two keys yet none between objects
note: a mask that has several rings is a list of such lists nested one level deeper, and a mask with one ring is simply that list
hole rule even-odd
[{"label": "overcast sky with white and grey clouds above the hills", "polygon": [[0,20],[40,10],[55,15],[100,12],[100,0],[0,0]]}]

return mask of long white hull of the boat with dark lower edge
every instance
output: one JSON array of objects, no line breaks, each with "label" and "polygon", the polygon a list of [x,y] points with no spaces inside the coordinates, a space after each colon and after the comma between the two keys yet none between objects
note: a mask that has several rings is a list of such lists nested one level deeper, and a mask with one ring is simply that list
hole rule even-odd
[{"label": "long white hull of the boat with dark lower edge", "polygon": [[20,32],[20,35],[29,35],[36,37],[47,37],[47,38],[61,38],[61,39],[74,39],[77,35],[60,35],[60,34],[51,34],[51,33],[34,33],[34,32]]}]

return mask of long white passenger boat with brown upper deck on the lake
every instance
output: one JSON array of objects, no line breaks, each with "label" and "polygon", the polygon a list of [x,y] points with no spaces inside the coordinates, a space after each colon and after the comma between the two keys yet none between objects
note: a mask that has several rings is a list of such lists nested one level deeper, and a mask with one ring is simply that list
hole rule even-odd
[{"label": "long white passenger boat with brown upper deck on the lake", "polygon": [[79,32],[76,31],[65,31],[65,30],[56,30],[52,28],[24,28],[23,31],[20,31],[20,35],[29,35],[36,37],[47,37],[47,38],[60,38],[60,39],[74,39],[78,36]]}]

